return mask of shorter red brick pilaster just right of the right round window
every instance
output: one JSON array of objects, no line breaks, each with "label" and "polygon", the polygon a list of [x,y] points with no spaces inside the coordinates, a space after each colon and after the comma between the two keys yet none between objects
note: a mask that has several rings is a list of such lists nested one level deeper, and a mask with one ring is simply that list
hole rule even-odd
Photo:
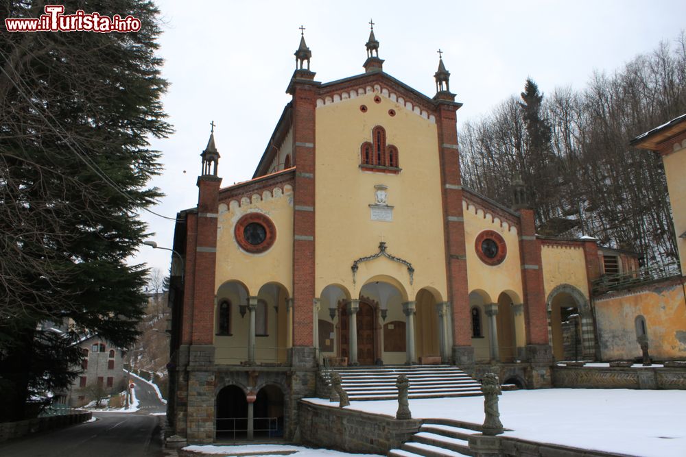
[{"label": "shorter red brick pilaster just right of the right round window", "polygon": [[522,208],[519,250],[524,291],[524,319],[527,345],[548,344],[548,319],[543,289],[541,242],[536,240],[534,211]]}]

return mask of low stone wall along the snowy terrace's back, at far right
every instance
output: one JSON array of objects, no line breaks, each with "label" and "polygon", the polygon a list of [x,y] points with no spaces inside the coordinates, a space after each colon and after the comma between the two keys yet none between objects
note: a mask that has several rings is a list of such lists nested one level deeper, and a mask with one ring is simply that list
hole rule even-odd
[{"label": "low stone wall along the snowy terrace's back, at far right", "polygon": [[686,389],[686,368],[553,367],[554,387]]}]

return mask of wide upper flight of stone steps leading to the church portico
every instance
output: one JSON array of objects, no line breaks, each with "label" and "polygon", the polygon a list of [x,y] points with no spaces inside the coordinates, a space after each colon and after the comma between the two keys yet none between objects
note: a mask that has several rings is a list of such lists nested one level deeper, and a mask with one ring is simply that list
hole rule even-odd
[{"label": "wide upper flight of stone steps leading to the church portico", "polygon": [[[335,369],[341,386],[351,400],[396,399],[399,375],[410,381],[408,397],[442,398],[482,395],[481,384],[451,365],[387,365]],[[330,384],[328,375],[324,378]]]}]

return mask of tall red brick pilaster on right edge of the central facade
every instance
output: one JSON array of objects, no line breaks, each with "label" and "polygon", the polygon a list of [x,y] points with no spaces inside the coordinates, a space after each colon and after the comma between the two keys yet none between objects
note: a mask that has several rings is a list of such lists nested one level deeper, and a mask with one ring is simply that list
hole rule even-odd
[{"label": "tall red brick pilaster on right edge of the central facade", "polygon": [[469,286],[467,284],[464,216],[462,214],[462,178],[456,111],[459,103],[439,101],[436,116],[438,152],[443,198],[446,274],[449,300],[453,305],[453,344],[471,345]]}]

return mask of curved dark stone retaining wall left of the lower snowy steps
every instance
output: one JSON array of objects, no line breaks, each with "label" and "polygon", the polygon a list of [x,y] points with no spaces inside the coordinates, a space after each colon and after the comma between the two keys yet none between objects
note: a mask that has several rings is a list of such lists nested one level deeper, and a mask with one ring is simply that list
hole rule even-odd
[{"label": "curved dark stone retaining wall left of the lower snowy steps", "polygon": [[300,440],[305,445],[353,454],[386,455],[418,432],[422,421],[399,421],[393,417],[301,401],[298,402],[298,425]]}]

